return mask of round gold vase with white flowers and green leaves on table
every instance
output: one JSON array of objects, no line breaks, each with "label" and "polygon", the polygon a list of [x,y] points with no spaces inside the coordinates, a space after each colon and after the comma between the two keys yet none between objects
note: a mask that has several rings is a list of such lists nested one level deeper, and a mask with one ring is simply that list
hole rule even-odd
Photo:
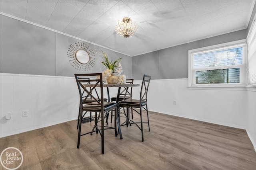
[{"label": "round gold vase with white flowers and green leaves on table", "polygon": [[[101,49],[98,49],[97,54],[102,58],[102,64],[105,66],[105,69],[102,72],[103,82],[108,82],[108,84],[124,84],[126,82],[126,76],[122,75],[122,66],[121,59],[113,61],[108,57],[106,53],[104,53]],[[115,76],[115,73],[118,75]]]}]

